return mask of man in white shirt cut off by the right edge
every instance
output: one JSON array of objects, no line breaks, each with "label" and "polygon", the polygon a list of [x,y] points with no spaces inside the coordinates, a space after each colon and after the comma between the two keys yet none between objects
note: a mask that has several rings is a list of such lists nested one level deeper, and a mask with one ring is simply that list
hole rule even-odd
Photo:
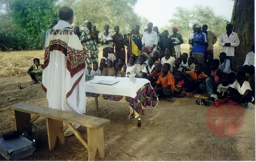
[{"label": "man in white shirt cut off by the right edge", "polygon": [[239,67],[239,72],[255,74],[255,43],[252,45],[252,52],[246,55],[243,66]]}]

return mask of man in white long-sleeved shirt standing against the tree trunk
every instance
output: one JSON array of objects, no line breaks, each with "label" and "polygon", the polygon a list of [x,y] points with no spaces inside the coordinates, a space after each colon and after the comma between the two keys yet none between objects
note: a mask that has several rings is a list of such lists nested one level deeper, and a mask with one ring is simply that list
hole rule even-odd
[{"label": "man in white long-sleeved shirt standing against the tree trunk", "polygon": [[230,60],[230,68],[233,71],[234,68],[234,52],[236,46],[240,44],[237,33],[233,32],[233,25],[226,25],[226,33],[223,33],[220,37],[219,46],[223,46],[222,52],[227,54],[226,59]]}]

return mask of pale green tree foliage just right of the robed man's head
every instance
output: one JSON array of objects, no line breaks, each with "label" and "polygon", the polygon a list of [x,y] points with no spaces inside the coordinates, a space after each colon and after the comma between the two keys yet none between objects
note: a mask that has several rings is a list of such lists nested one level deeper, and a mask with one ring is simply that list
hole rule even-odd
[{"label": "pale green tree foliage just right of the robed man's head", "polygon": [[[137,0],[81,0],[77,1],[74,9],[75,26],[85,27],[90,21],[100,31],[104,25],[109,24],[113,30],[114,26],[120,26],[121,33],[127,33],[136,25],[142,26],[142,18],[134,13],[133,6]],[[97,4],[97,5],[95,5]]]}]

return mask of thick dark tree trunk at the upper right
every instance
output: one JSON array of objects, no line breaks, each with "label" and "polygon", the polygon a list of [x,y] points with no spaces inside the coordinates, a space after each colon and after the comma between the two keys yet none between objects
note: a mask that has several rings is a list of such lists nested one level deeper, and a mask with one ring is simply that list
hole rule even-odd
[{"label": "thick dark tree trunk at the upper right", "polygon": [[240,40],[239,46],[235,47],[234,70],[242,66],[246,54],[251,52],[255,38],[254,29],[254,0],[235,0],[231,23],[233,31]]}]

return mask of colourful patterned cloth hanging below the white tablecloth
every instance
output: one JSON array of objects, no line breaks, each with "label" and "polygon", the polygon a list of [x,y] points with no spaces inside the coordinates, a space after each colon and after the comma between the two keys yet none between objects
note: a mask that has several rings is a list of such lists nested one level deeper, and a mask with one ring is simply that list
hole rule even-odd
[{"label": "colourful patterned cloth hanging below the white tablecloth", "polygon": [[119,102],[129,102],[130,115],[129,119],[139,117],[139,113],[142,109],[145,109],[146,106],[156,107],[158,104],[158,97],[156,92],[150,83],[142,86],[136,93],[135,98],[121,95],[111,95],[111,94],[97,94],[86,92],[86,96],[94,97],[104,100],[112,100]]}]

